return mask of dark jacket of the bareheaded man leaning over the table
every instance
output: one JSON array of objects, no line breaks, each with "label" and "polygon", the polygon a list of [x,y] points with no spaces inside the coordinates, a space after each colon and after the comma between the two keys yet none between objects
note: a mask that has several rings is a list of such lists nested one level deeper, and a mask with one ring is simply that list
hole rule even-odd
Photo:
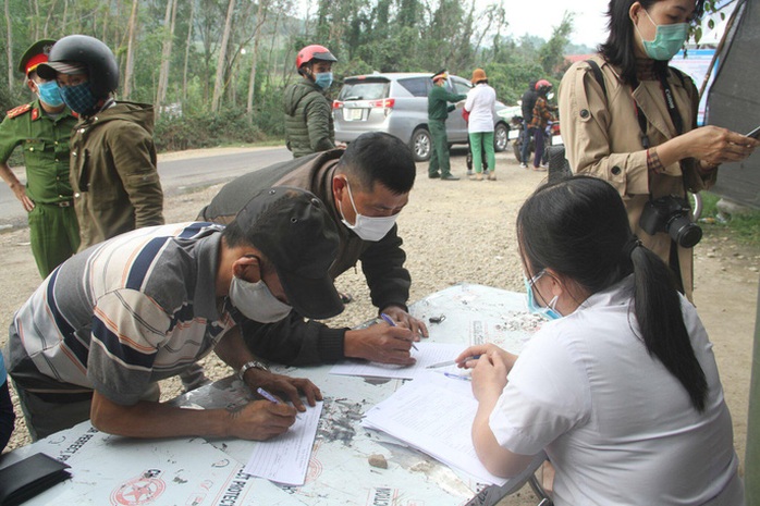
[{"label": "dark jacket of the bareheaded man leaning over the table", "polygon": [[[401,248],[397,227],[379,242],[363,240],[343,225],[335,210],[332,176],[343,152],[334,149],[242,175],[224,185],[198,219],[226,224],[261,189],[278,185],[308,189],[324,202],[338,225],[341,244],[330,275],[335,279],[361,260],[372,304],[381,309],[391,305],[406,308],[412,277],[404,268],[406,254]],[[242,330],[250,350],[269,360],[305,366],[345,358],[343,338],[347,329],[330,329],[322,323],[305,321],[295,311],[277,323],[247,320]]]}]

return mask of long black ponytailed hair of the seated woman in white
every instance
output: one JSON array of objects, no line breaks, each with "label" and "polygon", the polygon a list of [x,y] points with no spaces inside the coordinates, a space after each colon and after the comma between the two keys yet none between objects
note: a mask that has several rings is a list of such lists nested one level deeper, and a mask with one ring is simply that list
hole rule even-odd
[{"label": "long black ponytailed hair of the seated woman in white", "polygon": [[551,268],[588,294],[634,274],[634,313],[650,356],[704,410],[708,384],[695,356],[669,267],[630,232],[617,192],[605,181],[574,176],[539,187],[517,215],[523,261],[536,274]]}]

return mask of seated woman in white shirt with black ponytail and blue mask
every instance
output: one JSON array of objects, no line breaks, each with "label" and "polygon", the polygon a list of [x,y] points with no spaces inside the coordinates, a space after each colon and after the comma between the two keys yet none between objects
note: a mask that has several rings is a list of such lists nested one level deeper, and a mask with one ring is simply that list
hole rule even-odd
[{"label": "seated woman in white shirt with black ponytail and blue mask", "polygon": [[457,357],[474,368],[486,468],[514,476],[546,449],[559,506],[744,504],[712,344],[617,192],[589,176],[544,185],[517,236],[528,306],[553,321],[519,357]]}]

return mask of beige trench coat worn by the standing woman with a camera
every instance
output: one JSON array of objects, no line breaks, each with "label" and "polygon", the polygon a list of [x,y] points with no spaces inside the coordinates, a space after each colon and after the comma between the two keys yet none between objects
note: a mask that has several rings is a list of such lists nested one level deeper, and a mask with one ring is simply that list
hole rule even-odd
[{"label": "beige trench coat worn by the standing woman with a camera", "polygon": [[[671,238],[666,233],[647,234],[639,226],[643,206],[667,195],[684,197],[686,189],[699,192],[715,182],[716,171],[700,175],[694,159],[665,168],[662,174],[649,175],[647,150],[641,146],[641,128],[634,103],[643,111],[649,125],[651,146],[676,136],[659,81],[643,81],[632,91],[617,71],[597,55],[593,60],[604,75],[606,97],[587,62],[577,62],[565,73],[560,85],[560,119],[566,157],[574,173],[601,177],[620,192],[628,211],[634,233],[643,245],[665,262]],[[667,79],[683,119],[684,129],[696,127],[698,92],[691,79],[671,71]],[[692,250],[678,247],[678,263],[686,296],[694,289]]]}]

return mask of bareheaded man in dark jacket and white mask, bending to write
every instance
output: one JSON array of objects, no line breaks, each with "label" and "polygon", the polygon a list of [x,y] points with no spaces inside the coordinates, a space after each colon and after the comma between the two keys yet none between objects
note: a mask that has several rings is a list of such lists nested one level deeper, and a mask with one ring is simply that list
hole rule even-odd
[{"label": "bareheaded man in dark jacket and white mask, bending to write", "polygon": [[339,230],[338,258],[330,275],[338,277],[361,260],[372,304],[397,324],[368,329],[330,329],[305,321],[296,311],[277,323],[247,321],[243,337],[259,357],[304,366],[364,358],[414,363],[413,341],[427,336],[425,323],[407,312],[412,279],[404,268],[395,219],[408,201],[415,163],[397,137],[367,133],[344,151],[333,149],[250,172],[228,183],[199,214],[199,220],[226,223],[257,192],[289,185],[308,189],[328,208]]}]

